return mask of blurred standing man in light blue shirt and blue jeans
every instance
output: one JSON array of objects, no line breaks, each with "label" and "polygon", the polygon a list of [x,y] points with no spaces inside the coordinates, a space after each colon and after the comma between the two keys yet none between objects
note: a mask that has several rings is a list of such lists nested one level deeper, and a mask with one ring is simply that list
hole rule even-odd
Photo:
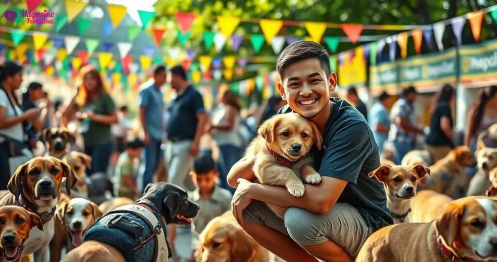
[{"label": "blurred standing man in light blue shirt and blue jeans", "polygon": [[143,142],[146,144],[145,168],[140,173],[142,191],[148,183],[152,183],[152,176],[162,153],[164,97],[161,87],[164,83],[166,83],[166,68],[159,65],[154,69],[154,78],[145,82],[139,91],[139,118],[144,131]]}]

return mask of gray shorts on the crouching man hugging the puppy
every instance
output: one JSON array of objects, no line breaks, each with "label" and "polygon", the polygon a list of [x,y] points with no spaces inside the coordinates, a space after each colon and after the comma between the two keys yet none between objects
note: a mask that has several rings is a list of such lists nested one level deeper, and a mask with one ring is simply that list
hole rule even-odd
[{"label": "gray shorts on the crouching man hugging the puppy", "polygon": [[253,200],[244,210],[244,221],[264,224],[286,236],[297,244],[318,245],[328,240],[342,247],[355,258],[372,230],[357,209],[347,203],[336,203],[325,215],[291,207],[285,220],[274,214],[265,203]]}]

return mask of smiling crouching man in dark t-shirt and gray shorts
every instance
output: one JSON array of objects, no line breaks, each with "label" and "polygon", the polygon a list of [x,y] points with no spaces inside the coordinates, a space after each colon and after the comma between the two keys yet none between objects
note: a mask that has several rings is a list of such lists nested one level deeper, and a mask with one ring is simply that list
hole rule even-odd
[{"label": "smiling crouching man in dark t-shirt and gray shorts", "polygon": [[[253,159],[241,159],[228,175],[237,187],[233,212],[253,239],[286,261],[352,261],[372,232],[393,223],[383,185],[368,176],[380,166],[378,146],[364,117],[344,100],[330,98],[336,74],[319,44],[289,45],[276,70],[288,103],[279,113],[296,112],[323,134],[323,149],[312,150],[323,180],[306,184],[305,194],[296,198],[284,187],[250,182]],[[288,208],[284,220],[263,202]]]}]

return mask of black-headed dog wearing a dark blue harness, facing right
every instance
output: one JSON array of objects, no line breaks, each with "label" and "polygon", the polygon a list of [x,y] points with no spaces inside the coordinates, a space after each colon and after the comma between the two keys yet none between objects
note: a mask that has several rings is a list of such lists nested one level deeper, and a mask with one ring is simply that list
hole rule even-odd
[{"label": "black-headed dog wearing a dark blue harness, facing right", "polygon": [[166,237],[163,234],[166,224],[190,224],[199,209],[197,204],[188,200],[183,189],[164,182],[148,184],[144,196],[131,208],[137,206],[154,213],[159,225],[151,226],[134,212],[116,209],[88,229],[84,234],[84,243],[71,251],[63,261],[166,261],[167,256],[164,258],[164,255],[167,253],[158,252],[165,247],[158,246],[159,239],[156,236]]}]

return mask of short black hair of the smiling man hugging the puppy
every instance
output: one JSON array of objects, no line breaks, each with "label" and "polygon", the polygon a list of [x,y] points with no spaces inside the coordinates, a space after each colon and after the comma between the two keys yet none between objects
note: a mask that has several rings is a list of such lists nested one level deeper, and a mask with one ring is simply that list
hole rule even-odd
[{"label": "short black hair of the smiling man hugging the puppy", "polygon": [[330,76],[330,57],[326,50],[316,42],[300,40],[285,47],[278,56],[278,59],[276,59],[276,71],[280,79],[283,79],[283,73],[290,64],[308,58],[319,59],[321,68],[325,71],[326,76]]}]

